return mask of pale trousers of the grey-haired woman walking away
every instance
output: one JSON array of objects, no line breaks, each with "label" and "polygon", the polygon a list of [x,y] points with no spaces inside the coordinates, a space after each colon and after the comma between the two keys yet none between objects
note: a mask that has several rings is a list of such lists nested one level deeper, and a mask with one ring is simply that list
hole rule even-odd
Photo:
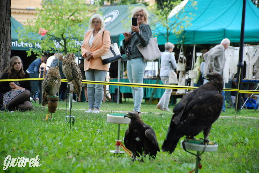
[{"label": "pale trousers of the grey-haired woman walking away", "polygon": [[[169,77],[160,77],[160,78],[164,85],[169,85]],[[168,108],[171,93],[172,93],[172,89],[166,88],[163,96],[158,102],[158,104],[160,104],[164,109]]]}]

